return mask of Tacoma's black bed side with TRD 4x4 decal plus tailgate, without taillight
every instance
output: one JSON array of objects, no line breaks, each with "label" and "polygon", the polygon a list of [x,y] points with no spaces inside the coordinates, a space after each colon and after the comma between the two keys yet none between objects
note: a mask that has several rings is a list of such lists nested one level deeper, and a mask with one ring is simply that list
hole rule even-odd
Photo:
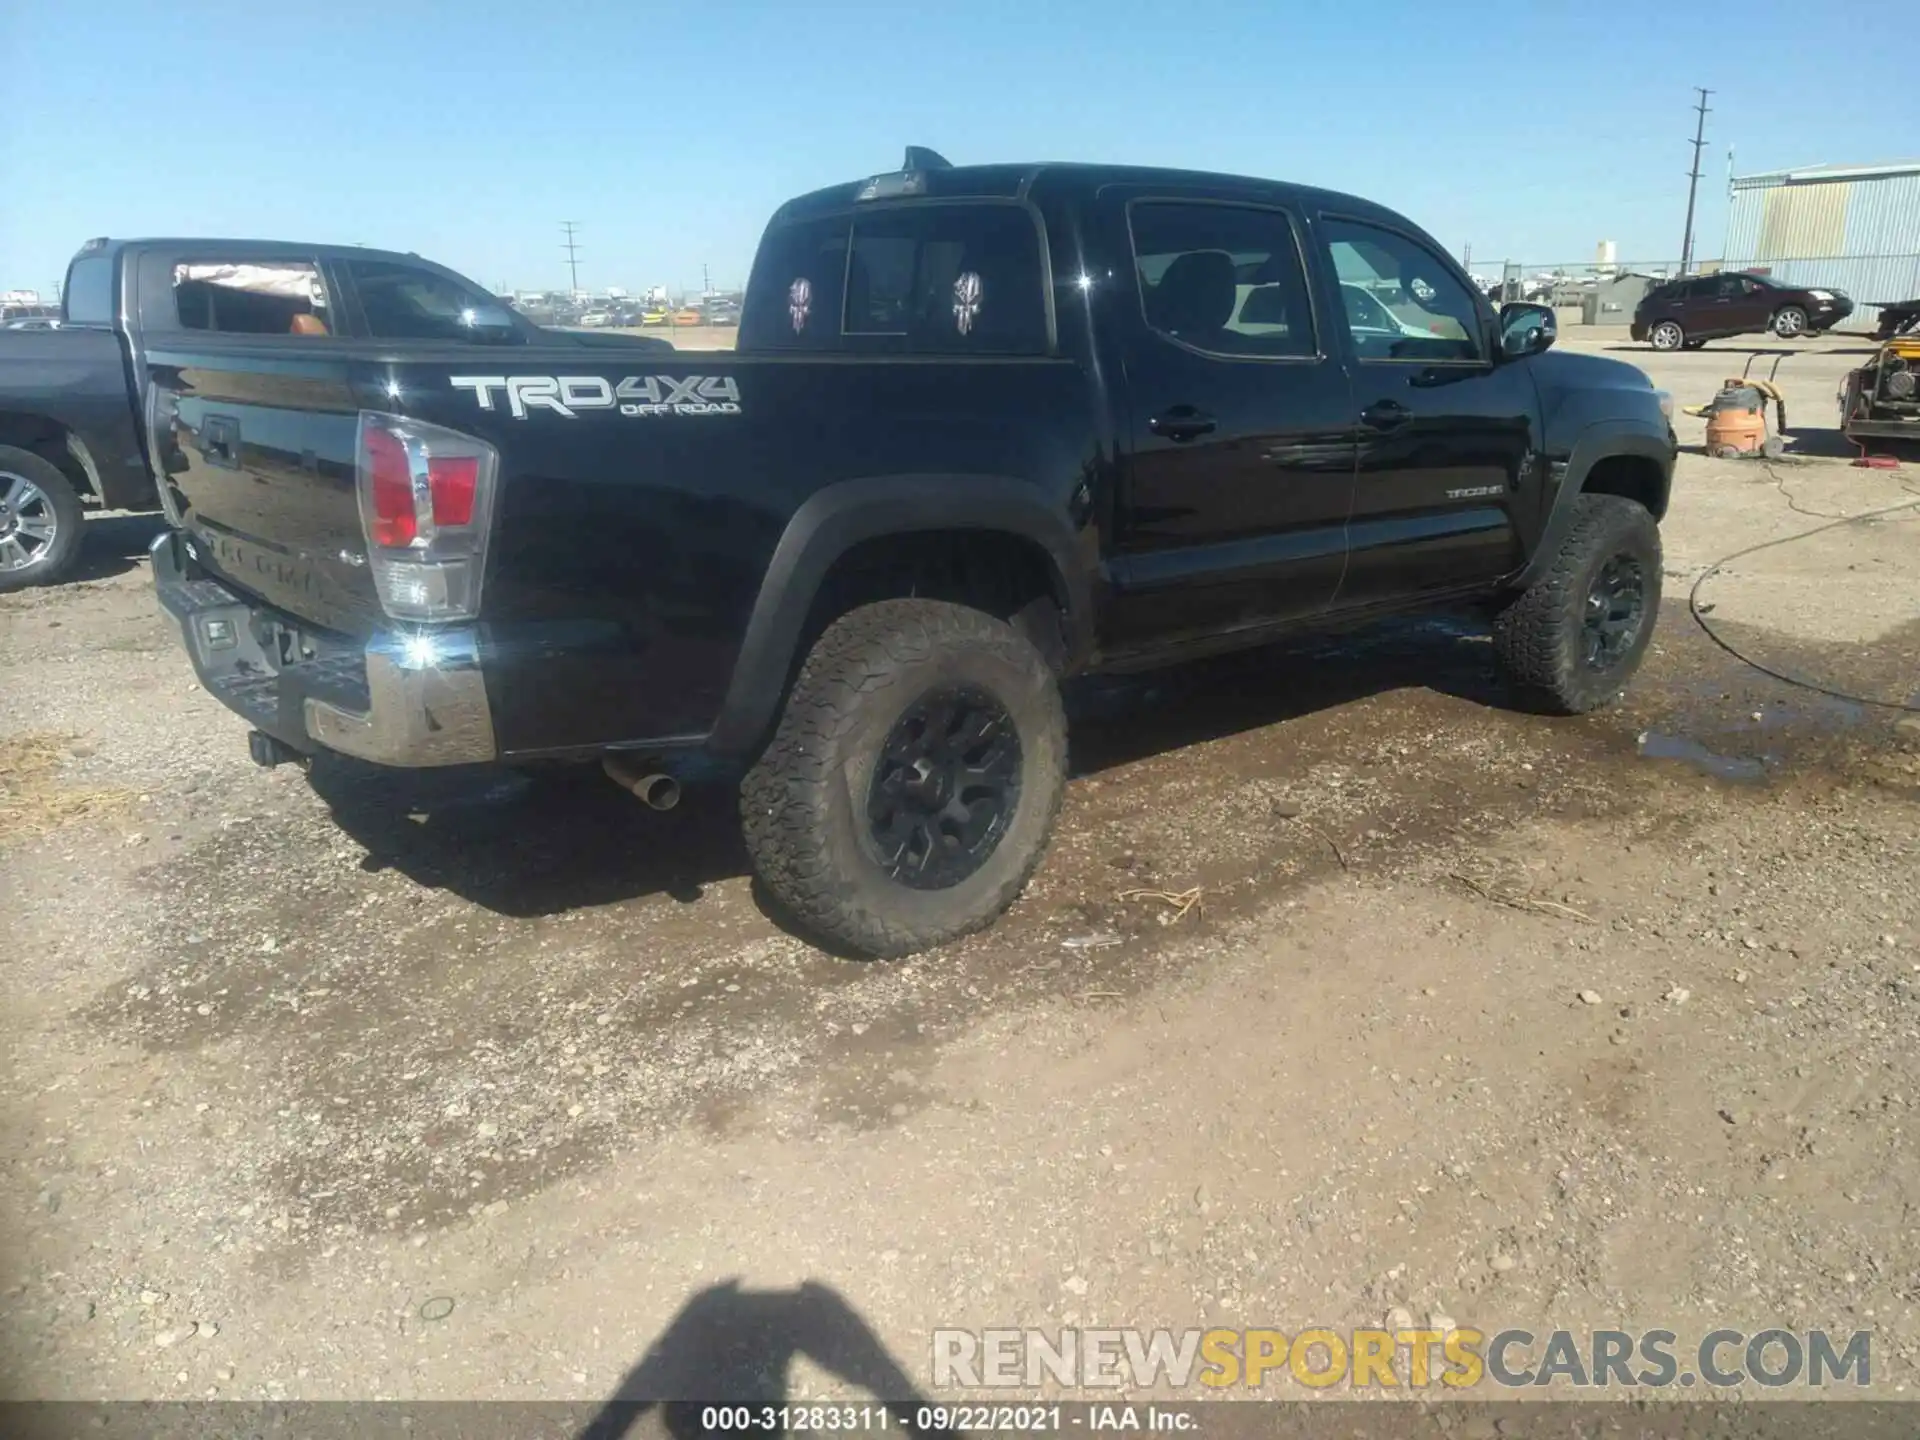
[{"label": "Tacoma's black bed side with TRD 4x4 decal plus tailgate, without taillight", "polygon": [[501,756],[703,739],[776,545],[822,488],[925,474],[929,455],[954,486],[1071,486],[1104,428],[1066,359],[207,336],[146,365],[186,563],[326,651],[407,630],[384,616],[367,566],[361,411],[497,449],[472,634]]}]

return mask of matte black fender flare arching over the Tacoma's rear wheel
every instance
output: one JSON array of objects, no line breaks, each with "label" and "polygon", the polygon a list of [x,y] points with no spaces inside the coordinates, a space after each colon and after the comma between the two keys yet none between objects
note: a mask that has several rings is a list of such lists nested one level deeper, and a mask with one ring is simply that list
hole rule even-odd
[{"label": "matte black fender flare arching over the Tacoma's rear wheel", "polygon": [[733,660],[707,747],[741,756],[766,737],[787,687],[806,616],[833,563],[852,545],[922,530],[983,530],[1031,540],[1046,551],[1062,607],[1068,666],[1091,651],[1092,601],[1087,540],[1066,507],[1029,482],[979,474],[843,480],[810,495],[780,536]]}]

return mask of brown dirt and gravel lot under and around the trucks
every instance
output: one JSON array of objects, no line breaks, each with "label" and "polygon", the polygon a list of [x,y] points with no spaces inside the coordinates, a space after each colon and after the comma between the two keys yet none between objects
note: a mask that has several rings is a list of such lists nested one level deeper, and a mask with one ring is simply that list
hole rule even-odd
[{"label": "brown dirt and gravel lot under and around the trucks", "polygon": [[[764,1392],[804,1281],[918,1386],[933,1327],[1405,1309],[1872,1329],[1905,1390],[1920,732],[1684,607],[1920,497],[1818,428],[1843,349],[1801,459],[1682,459],[1619,708],[1509,712],[1452,616],[1081,687],[1029,895],[899,966],[768,920],[716,789],[255,770],[100,522],[0,601],[6,1392],[599,1398],[689,1302],[634,1382]],[[1709,620],[1920,701],[1916,516]]]}]

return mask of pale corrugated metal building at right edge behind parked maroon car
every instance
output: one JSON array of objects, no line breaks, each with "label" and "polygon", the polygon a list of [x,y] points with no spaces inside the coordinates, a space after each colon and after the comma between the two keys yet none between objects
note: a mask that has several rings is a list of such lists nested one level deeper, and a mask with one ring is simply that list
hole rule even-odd
[{"label": "pale corrugated metal building at right edge behind parked maroon car", "polygon": [[1845,328],[1872,326],[1874,301],[1920,300],[1920,159],[1736,179],[1722,267],[1845,290]]}]

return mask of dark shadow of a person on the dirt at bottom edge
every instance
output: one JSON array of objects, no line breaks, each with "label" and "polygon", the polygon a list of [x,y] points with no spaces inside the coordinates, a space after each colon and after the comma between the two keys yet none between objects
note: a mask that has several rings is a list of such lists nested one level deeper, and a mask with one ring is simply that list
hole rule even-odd
[{"label": "dark shadow of a person on the dirt at bottom edge", "polygon": [[722,1281],[674,1315],[578,1440],[620,1440],[653,1409],[674,1440],[705,1436],[707,1405],[787,1404],[787,1371],[801,1356],[885,1404],[900,1428],[929,1440],[950,1434],[918,1427],[924,1402],[912,1380],[837,1290],[814,1281],[743,1290]]}]

